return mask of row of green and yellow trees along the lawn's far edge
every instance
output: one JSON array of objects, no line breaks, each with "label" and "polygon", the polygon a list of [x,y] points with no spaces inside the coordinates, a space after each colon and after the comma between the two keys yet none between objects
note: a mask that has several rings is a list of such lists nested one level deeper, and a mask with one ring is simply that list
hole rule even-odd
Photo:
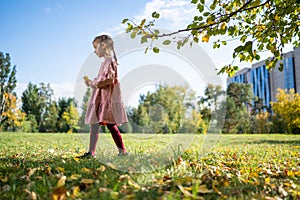
[{"label": "row of green and yellow trees along the lawn's far edge", "polygon": [[[84,124],[91,90],[84,94],[81,113],[74,98],[54,100],[49,84],[28,83],[18,99],[16,66],[0,52],[0,130],[22,132],[89,132]],[[120,126],[128,133],[207,133],[219,123],[222,133],[292,133],[300,128],[300,96],[293,90],[278,90],[271,107],[255,97],[251,85],[208,84],[203,96],[186,86],[157,85],[141,95],[136,108],[127,107],[129,123]],[[105,127],[103,131],[106,132]]]}]

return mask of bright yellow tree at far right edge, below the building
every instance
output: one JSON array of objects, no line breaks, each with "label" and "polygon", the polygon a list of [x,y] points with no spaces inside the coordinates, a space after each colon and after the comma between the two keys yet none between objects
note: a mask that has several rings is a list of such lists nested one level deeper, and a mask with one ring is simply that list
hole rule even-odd
[{"label": "bright yellow tree at far right edge, below the building", "polygon": [[274,115],[280,117],[287,125],[289,133],[300,129],[300,94],[294,89],[278,89],[276,102],[271,102]]}]

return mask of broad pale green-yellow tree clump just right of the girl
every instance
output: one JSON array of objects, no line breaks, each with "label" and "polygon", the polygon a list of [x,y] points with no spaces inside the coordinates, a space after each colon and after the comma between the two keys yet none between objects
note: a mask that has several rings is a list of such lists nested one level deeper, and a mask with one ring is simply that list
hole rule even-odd
[{"label": "broad pale green-yellow tree clump just right of the girl", "polygon": [[138,108],[130,112],[133,131],[177,133],[197,106],[191,103],[195,99],[195,92],[187,87],[159,85],[155,92],[142,95]]}]

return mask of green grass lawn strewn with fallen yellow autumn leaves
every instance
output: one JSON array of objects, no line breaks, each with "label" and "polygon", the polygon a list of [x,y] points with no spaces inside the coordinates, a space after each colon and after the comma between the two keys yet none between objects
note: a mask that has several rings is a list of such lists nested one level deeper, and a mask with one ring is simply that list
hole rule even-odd
[{"label": "green grass lawn strewn with fallen yellow autumn leaves", "polygon": [[0,133],[0,199],[300,199],[300,135]]}]

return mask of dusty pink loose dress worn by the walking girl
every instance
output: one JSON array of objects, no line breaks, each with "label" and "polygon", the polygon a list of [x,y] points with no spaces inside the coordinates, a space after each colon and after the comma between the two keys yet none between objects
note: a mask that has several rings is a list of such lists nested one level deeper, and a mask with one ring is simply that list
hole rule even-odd
[{"label": "dusty pink loose dress worn by the walking girl", "polygon": [[[100,81],[113,79],[113,83],[103,88],[97,88]],[[118,81],[117,64],[111,58],[102,62],[97,78],[91,82],[92,95],[89,100],[86,124],[122,124],[128,122],[124,109],[120,83]]]}]

